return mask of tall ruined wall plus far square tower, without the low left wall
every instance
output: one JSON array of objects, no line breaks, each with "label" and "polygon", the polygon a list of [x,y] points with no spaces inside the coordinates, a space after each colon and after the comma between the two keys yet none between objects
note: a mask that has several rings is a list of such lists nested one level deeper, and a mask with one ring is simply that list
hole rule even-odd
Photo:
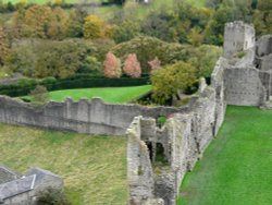
[{"label": "tall ruined wall plus far square tower, without the low left wall", "polygon": [[171,114],[161,129],[154,119],[134,119],[127,130],[129,204],[175,205],[185,173],[217,136],[226,105],[270,106],[272,36],[255,39],[251,25],[227,23],[211,85],[201,81],[188,109]]}]

